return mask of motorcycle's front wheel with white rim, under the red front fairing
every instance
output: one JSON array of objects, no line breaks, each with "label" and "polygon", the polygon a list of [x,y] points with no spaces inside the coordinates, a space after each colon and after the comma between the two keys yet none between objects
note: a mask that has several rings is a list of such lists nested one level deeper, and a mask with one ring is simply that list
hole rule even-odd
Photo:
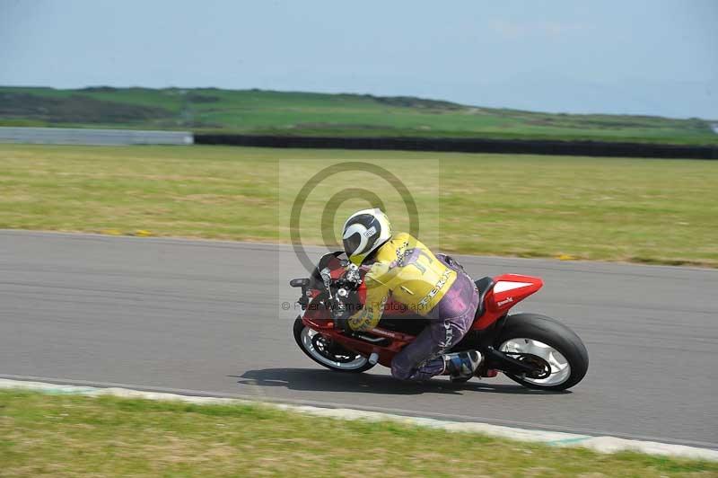
[{"label": "motorcycle's front wheel with white rim, under the red front fairing", "polygon": [[319,332],[311,330],[304,325],[301,317],[294,321],[294,341],[297,342],[307,356],[335,372],[358,374],[365,372],[376,364],[370,364],[369,359],[361,354],[346,350],[340,344],[328,341]]}]

